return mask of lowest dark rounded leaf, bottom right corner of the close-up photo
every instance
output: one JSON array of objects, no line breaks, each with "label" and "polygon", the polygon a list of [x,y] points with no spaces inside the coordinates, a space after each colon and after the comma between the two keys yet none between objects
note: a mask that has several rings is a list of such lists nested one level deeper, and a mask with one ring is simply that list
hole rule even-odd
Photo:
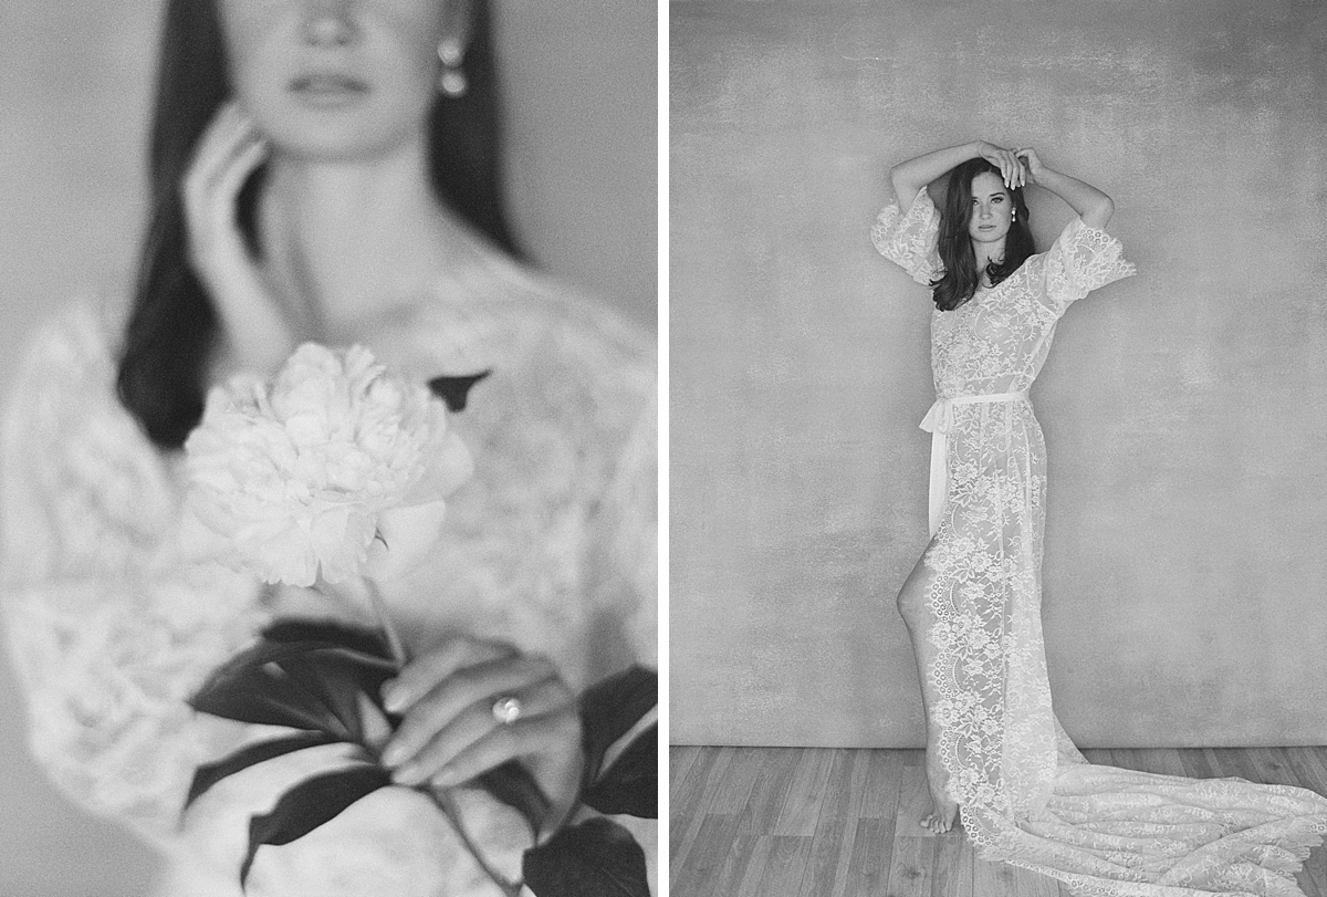
[{"label": "lowest dark rounded leaf, bottom right corner of the close-up photo", "polygon": [[539,897],[649,897],[645,852],[632,833],[596,817],[525,852],[525,884]]}]

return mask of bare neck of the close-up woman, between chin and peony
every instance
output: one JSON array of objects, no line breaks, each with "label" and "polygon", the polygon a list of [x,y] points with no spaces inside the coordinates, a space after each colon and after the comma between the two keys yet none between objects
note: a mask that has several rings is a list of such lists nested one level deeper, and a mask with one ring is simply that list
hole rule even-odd
[{"label": "bare neck of the close-up woman, between chin and peony", "polygon": [[345,341],[357,321],[418,297],[474,251],[434,199],[422,142],[368,162],[275,154],[259,234],[297,340]]}]

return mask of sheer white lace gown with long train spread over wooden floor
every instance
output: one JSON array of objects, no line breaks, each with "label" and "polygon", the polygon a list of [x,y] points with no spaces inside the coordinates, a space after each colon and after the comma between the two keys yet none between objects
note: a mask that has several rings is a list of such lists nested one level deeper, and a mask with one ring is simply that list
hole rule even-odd
[{"label": "sheer white lace gown with long train spread over wooden floor", "polygon": [[[920,284],[942,271],[924,188],[888,206],[876,248]],[[1080,894],[1300,894],[1294,872],[1327,832],[1327,799],[1242,779],[1095,766],[1051,709],[1040,622],[1046,446],[1027,390],[1055,325],[1135,272],[1119,240],[1075,218],[1050,251],[932,313],[932,541],[924,555],[949,794],[987,860]]]}]

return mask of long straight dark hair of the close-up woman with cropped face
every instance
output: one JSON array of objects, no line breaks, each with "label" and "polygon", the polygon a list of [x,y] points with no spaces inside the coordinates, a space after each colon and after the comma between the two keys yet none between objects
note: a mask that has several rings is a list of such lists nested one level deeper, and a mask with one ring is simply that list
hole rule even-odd
[{"label": "long straight dark hair of the close-up woman with cropped face", "polygon": [[[430,180],[438,199],[514,256],[502,202],[500,129],[488,0],[471,0],[463,97],[438,94],[429,114]],[[203,414],[207,362],[219,321],[188,263],[180,183],[207,125],[231,96],[226,42],[210,0],[167,0],[153,113],[147,231],[117,387],[125,407],[163,448],[184,443]],[[256,248],[263,170],[238,200],[239,224]]]}]

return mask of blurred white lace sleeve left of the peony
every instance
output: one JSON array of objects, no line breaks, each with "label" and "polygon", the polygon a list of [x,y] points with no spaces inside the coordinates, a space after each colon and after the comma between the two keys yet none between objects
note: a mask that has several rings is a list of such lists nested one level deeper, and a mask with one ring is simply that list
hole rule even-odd
[{"label": "blurred white lace sleeve left of the peony", "polygon": [[184,705],[259,625],[256,588],[173,557],[176,498],[74,307],[20,365],[4,421],[0,586],[29,744],[74,800],[159,841],[234,723]]}]

